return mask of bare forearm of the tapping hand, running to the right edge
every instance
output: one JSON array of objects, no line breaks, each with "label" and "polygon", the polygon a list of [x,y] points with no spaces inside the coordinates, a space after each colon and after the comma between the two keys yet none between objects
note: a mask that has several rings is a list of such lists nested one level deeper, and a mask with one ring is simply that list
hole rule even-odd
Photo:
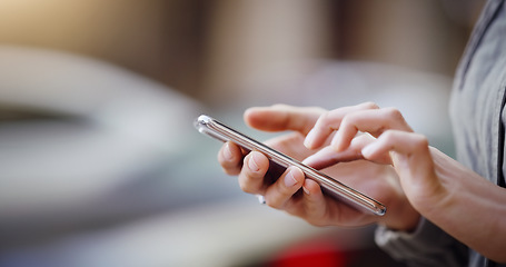
[{"label": "bare forearm of the tapping hand, running to the right edge", "polygon": [[506,190],[431,149],[440,194],[415,201],[430,221],[496,261],[505,263]]}]

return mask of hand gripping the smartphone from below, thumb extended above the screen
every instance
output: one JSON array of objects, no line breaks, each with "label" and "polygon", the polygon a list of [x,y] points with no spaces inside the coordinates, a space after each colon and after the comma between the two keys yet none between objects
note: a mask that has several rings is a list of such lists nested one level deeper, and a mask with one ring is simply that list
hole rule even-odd
[{"label": "hand gripping the smartphone from below, thumb extended above the screen", "polygon": [[[318,108],[289,106],[252,108],[246,111],[245,121],[266,131],[292,130],[294,132],[267,141],[267,145],[302,160],[318,151],[307,149],[304,140],[324,112],[325,110]],[[357,155],[354,151],[343,152],[335,159],[351,160],[357,159]],[[227,174],[239,176],[239,185],[244,191],[262,195],[270,207],[286,210],[312,225],[363,226],[380,222],[396,229],[413,229],[419,219],[418,212],[404,196],[391,166],[356,160],[323,170],[345,185],[384,202],[388,211],[384,217],[378,217],[325,196],[319,186],[305,179],[299,169],[290,167],[284,171],[275,170],[264,155],[255,151],[245,154],[235,144],[226,144],[218,154],[218,160]]]}]

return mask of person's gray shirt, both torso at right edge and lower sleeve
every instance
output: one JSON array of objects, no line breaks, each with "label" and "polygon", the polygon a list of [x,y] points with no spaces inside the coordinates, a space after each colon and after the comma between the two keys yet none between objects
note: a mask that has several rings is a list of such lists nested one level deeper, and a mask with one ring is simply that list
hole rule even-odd
[{"label": "person's gray shirt, both torso at right edge and lower sleeve", "polygon": [[[505,89],[506,4],[489,0],[457,69],[450,117],[457,160],[503,187]],[[378,227],[376,243],[409,266],[506,266],[467,249],[426,219],[411,234]]]}]

